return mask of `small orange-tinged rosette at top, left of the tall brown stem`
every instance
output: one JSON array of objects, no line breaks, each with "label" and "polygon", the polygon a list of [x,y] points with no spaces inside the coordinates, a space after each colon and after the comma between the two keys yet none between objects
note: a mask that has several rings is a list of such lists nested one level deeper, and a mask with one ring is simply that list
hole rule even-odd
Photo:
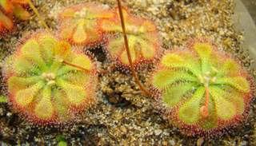
[{"label": "small orange-tinged rosette at top, left of the tall brown stem", "polygon": [[111,17],[112,10],[96,2],[67,7],[58,15],[61,25],[59,35],[73,44],[93,44],[102,40],[98,21]]}]

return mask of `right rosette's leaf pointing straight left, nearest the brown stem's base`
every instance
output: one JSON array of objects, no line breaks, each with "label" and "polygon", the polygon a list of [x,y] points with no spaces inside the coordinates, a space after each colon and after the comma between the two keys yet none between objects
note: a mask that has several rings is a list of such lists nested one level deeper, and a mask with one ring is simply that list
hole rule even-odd
[{"label": "right rosette's leaf pointing straight left, nearest the brown stem's base", "polygon": [[174,84],[177,81],[198,81],[198,79],[182,70],[165,69],[155,73],[153,85],[158,89],[166,89],[168,85]]}]

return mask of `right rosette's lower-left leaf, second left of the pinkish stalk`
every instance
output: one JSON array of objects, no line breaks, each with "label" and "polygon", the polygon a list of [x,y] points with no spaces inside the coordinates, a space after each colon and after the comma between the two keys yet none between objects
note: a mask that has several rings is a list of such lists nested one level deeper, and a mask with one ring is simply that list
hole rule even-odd
[{"label": "right rosette's lower-left leaf, second left of the pinkish stalk", "polygon": [[193,90],[196,86],[197,84],[194,83],[184,83],[170,87],[164,91],[162,95],[162,101],[168,107],[177,105],[178,102],[182,100],[182,97],[184,97],[186,93]]}]

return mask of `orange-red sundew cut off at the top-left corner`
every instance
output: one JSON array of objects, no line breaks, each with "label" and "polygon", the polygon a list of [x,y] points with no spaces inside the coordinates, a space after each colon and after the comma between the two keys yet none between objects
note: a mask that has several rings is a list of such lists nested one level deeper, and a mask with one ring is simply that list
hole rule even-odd
[{"label": "orange-red sundew cut off at the top-left corner", "polygon": [[27,0],[0,0],[0,32],[13,28],[13,16],[21,20],[30,18],[30,14],[24,8],[27,4]]}]

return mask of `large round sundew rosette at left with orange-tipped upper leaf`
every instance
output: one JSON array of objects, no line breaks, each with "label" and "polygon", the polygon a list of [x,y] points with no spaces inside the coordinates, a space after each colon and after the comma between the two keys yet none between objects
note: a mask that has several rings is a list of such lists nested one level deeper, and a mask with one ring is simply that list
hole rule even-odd
[{"label": "large round sundew rosette at left with orange-tipped upper leaf", "polygon": [[37,124],[74,120],[95,103],[94,64],[51,34],[37,33],[27,39],[6,59],[4,74],[10,103]]}]

